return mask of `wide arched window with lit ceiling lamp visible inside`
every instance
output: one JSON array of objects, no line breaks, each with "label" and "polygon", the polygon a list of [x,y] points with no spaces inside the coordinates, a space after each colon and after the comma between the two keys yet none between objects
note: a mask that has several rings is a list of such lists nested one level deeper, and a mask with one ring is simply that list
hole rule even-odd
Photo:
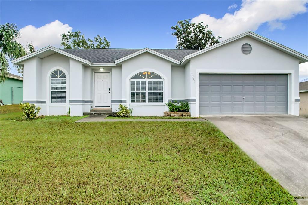
[{"label": "wide arched window with lit ceiling lamp visible inside", "polygon": [[141,72],[130,80],[131,102],[164,102],[164,80],[156,73]]}]

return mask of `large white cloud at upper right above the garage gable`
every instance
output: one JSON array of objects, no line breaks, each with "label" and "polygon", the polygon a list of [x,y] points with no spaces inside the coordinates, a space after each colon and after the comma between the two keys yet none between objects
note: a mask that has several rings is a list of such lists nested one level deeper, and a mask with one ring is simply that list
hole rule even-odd
[{"label": "large white cloud at upper right above the garage gable", "polygon": [[307,12],[308,1],[256,1],[244,0],[241,8],[234,14],[225,14],[222,18],[215,18],[208,14],[200,14],[191,22],[203,22],[209,25],[215,36],[222,40],[231,38],[248,30],[255,31],[268,22],[270,29],[284,29],[281,21],[290,19],[297,14]]}]

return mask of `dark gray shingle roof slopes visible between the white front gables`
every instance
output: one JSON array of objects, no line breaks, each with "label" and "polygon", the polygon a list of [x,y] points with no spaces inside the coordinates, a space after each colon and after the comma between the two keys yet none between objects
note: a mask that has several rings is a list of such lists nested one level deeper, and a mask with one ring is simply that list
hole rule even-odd
[{"label": "dark gray shingle roof slopes visible between the white front gables", "polygon": [[[73,54],[80,58],[90,61],[91,63],[113,63],[119,58],[123,58],[129,54],[135,53],[142,49],[61,49],[67,53]],[[156,52],[174,58],[178,61],[182,60],[184,56],[197,52],[198,50],[190,49],[152,49]]]}]

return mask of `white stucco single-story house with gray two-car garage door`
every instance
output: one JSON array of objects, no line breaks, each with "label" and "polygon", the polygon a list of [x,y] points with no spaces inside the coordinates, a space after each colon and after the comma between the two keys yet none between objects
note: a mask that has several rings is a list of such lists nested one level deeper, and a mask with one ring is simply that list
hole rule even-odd
[{"label": "white stucco single-story house with gray two-car garage door", "polygon": [[119,104],[162,116],[187,101],[192,116],[299,115],[299,63],[308,56],[251,31],[202,50],[40,49],[24,67],[23,102],[40,115],[83,115]]}]

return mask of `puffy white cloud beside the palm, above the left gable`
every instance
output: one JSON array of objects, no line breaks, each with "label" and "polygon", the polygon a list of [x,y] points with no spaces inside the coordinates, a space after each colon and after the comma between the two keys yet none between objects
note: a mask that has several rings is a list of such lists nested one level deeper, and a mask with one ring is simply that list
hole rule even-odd
[{"label": "puffy white cloud beside the palm, above the left gable", "polygon": [[55,20],[51,23],[47,23],[44,26],[36,28],[35,26],[28,25],[19,30],[21,38],[19,42],[25,47],[27,42],[32,42],[36,50],[46,46],[60,47],[61,34],[71,31],[73,28],[68,24]]}]

